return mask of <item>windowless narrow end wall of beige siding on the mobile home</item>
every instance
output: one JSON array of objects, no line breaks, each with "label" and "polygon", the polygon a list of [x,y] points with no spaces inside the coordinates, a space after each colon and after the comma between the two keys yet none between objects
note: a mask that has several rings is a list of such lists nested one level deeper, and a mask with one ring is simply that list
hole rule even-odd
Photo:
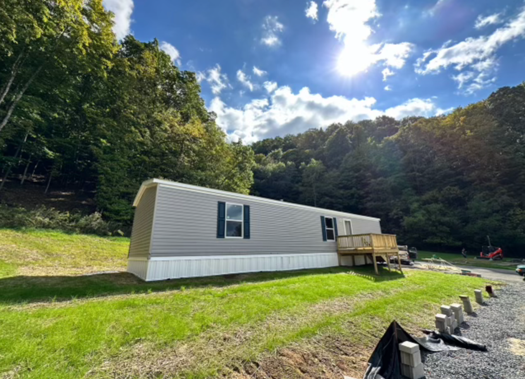
[{"label": "windowless narrow end wall of beige siding on the mobile home", "polygon": [[156,186],[147,188],[133,218],[130,257],[149,257],[153,215],[155,213]]}]

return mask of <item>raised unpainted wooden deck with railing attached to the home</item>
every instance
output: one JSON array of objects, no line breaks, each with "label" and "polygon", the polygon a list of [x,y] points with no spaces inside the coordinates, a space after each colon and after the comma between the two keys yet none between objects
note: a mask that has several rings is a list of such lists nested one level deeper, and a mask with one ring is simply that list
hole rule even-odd
[{"label": "raised unpainted wooden deck with railing attached to the home", "polygon": [[[388,270],[391,270],[390,257],[397,257],[399,269],[401,268],[401,259],[399,256],[399,249],[397,248],[397,239],[393,234],[353,234],[348,236],[337,237],[337,253],[339,256],[339,264],[341,264],[341,256],[352,256],[352,263],[355,265],[355,256],[368,256],[374,263],[376,275],[379,275],[377,270],[377,257],[382,257],[388,265]],[[365,258],[366,261],[366,258]]]}]

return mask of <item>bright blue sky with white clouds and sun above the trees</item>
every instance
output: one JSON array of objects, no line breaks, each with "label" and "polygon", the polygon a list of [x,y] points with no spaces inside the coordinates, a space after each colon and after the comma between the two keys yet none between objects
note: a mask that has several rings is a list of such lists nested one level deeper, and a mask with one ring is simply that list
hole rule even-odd
[{"label": "bright blue sky with white clouds and sun above the trees", "polygon": [[228,139],[431,117],[525,80],[525,2],[104,0],[121,39],[159,40]]}]

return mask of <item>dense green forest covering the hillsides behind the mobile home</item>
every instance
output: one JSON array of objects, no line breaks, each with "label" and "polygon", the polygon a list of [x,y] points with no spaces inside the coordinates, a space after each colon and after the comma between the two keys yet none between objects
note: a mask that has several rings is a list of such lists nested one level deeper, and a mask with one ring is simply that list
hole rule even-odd
[{"label": "dense green forest covering the hillsides behind the mobile home", "polygon": [[524,84],[440,117],[247,146],[228,142],[194,72],[157,40],[117,41],[112,18],[102,0],[0,0],[0,226],[40,225],[23,195],[36,187],[85,196],[104,233],[129,233],[137,189],[159,177],[380,217],[418,248],[477,252],[490,235],[523,254]]}]

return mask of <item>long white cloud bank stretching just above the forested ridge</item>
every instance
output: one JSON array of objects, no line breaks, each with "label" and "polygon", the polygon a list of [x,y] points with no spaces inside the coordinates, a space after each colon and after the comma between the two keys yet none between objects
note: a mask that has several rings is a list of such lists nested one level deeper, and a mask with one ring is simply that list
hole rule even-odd
[{"label": "long white cloud bank stretching just above the forested ridge", "polygon": [[283,86],[272,92],[269,98],[251,100],[240,109],[228,107],[219,97],[215,97],[209,110],[217,114],[217,124],[230,139],[242,139],[245,143],[327,127],[333,122],[375,119],[385,114],[395,118],[408,115],[428,117],[443,112],[431,99],[410,99],[384,111],[373,109],[375,102],[372,97],[324,98],[311,93],[307,87],[293,93],[290,87]]}]

